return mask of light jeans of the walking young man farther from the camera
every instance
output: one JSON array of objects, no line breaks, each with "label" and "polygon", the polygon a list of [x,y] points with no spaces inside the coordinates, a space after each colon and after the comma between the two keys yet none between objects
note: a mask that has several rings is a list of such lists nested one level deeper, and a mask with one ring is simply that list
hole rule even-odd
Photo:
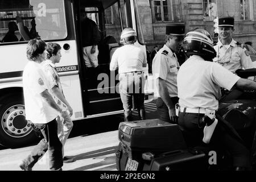
[{"label": "light jeans of the walking young man farther from the camera", "polygon": [[[66,111],[67,112],[67,111]],[[65,118],[57,117],[57,134],[62,144],[62,155],[64,156],[64,145],[68,139],[69,134],[71,133],[73,122],[69,117],[68,113],[66,113]]]}]

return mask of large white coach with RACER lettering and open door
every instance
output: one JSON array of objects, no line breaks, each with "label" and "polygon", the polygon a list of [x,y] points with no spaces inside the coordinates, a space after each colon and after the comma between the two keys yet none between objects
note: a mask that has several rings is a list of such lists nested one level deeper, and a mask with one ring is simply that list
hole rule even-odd
[{"label": "large white coach with RACER lettering and open door", "polygon": [[[86,68],[82,57],[82,11],[100,30],[97,71]],[[109,63],[121,46],[123,28],[142,32],[137,16],[135,0],[0,0],[0,144],[21,147],[37,138],[31,122],[25,119],[22,73],[28,61],[28,40],[17,26],[18,19],[29,35],[60,44],[62,57],[56,69],[64,95],[73,107],[72,119],[86,121],[123,112],[119,93],[115,92],[117,71],[110,72]],[[135,44],[146,52],[143,35],[139,35]],[[148,75],[147,68],[144,72]],[[152,89],[145,86],[145,93],[152,94]]]}]

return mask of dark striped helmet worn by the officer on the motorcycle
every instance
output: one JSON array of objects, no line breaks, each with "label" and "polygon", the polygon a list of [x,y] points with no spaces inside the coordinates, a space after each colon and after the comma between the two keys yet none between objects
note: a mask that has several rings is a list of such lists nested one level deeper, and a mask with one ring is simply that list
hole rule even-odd
[{"label": "dark striped helmet worn by the officer on the motorcycle", "polygon": [[188,32],[183,43],[185,55],[188,57],[199,55],[205,60],[212,60],[216,57],[212,37],[206,30],[196,29],[195,31]]}]

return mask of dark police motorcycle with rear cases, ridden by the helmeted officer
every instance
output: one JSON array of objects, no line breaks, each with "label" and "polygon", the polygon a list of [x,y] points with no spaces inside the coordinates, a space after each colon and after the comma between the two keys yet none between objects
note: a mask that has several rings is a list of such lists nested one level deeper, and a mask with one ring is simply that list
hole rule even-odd
[{"label": "dark police motorcycle with rear cases, ridden by the helmeted officer", "polygon": [[[186,45],[184,43],[185,49]],[[200,47],[204,44],[195,44]],[[190,47],[191,48],[191,47]],[[192,48],[193,49],[193,48]],[[188,55],[189,56],[189,55]],[[256,69],[238,70],[242,78],[256,76]],[[256,93],[234,89],[219,102],[216,121],[222,122],[233,136],[250,150],[251,169],[256,168]],[[227,151],[210,146],[216,121],[205,119],[204,145],[189,147],[176,124],[148,119],[121,122],[119,146],[115,153],[120,171],[219,171],[232,169]]]}]

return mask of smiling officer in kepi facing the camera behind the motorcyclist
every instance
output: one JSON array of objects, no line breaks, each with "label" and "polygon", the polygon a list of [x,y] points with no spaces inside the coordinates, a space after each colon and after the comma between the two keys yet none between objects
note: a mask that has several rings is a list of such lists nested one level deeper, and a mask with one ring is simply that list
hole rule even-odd
[{"label": "smiling officer in kepi facing the camera behind the motorcyclist", "polygon": [[246,49],[241,47],[241,43],[236,42],[232,38],[234,32],[234,18],[219,18],[218,31],[220,40],[217,45],[214,46],[217,56],[213,61],[233,73],[235,73],[237,69],[254,68],[249,53],[247,53]]}]

